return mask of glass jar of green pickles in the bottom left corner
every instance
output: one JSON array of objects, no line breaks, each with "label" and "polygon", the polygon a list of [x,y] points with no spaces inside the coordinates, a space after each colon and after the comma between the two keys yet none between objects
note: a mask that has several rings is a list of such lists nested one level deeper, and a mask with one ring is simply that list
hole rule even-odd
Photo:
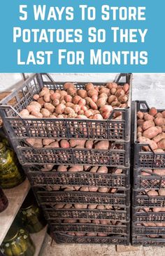
[{"label": "glass jar of green pickles in the bottom left corner", "polygon": [[6,256],[33,256],[35,246],[27,231],[12,224],[1,244],[1,252]]}]

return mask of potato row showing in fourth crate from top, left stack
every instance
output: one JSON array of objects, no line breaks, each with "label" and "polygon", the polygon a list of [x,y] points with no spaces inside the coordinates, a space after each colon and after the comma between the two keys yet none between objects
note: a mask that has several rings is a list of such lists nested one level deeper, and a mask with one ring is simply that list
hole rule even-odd
[{"label": "potato row showing in fourth crate from top, left stack", "polygon": [[117,188],[104,188],[98,186],[46,186],[48,191],[83,191],[83,192],[100,192],[116,193]]}]

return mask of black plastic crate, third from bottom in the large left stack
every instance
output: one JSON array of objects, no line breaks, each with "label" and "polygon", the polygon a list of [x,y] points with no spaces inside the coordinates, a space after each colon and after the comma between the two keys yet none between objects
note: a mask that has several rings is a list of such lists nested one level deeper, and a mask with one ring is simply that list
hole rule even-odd
[{"label": "black plastic crate, third from bottom in the large left stack", "polygon": [[46,219],[110,219],[129,221],[129,207],[122,210],[55,209],[50,205],[41,205]]}]

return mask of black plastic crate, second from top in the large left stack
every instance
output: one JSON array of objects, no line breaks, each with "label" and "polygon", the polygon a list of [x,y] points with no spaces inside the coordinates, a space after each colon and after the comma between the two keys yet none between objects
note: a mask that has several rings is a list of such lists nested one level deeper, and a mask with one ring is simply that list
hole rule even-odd
[{"label": "black plastic crate, second from top in the large left stack", "polygon": [[[15,152],[22,165],[106,165],[111,167],[129,167],[130,143],[114,142],[111,149],[78,149],[78,148],[32,148],[25,141],[14,141]],[[120,146],[122,149],[115,147]],[[115,149],[114,149],[115,148]]]}]

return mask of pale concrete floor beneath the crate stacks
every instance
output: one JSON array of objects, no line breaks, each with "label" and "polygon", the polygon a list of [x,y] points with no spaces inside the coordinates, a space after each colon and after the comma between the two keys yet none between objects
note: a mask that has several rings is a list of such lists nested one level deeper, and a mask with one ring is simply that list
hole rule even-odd
[{"label": "pale concrete floor beneath the crate stacks", "polygon": [[45,237],[40,256],[164,256],[165,247],[124,245],[57,244],[50,236]]}]

